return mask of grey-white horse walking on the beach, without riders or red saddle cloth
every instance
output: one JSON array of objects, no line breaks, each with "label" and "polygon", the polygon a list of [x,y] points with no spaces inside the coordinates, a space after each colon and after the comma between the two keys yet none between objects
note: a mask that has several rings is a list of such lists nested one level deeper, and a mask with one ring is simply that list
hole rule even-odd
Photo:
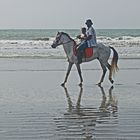
[{"label": "grey-white horse walking on the beach, without riders or red saddle cloth", "polygon": [[[65,86],[65,83],[67,82],[71,68],[72,68],[73,64],[75,64],[77,67],[79,76],[80,76],[80,84],[79,85],[82,86],[83,78],[81,75],[81,68],[80,68],[80,64],[78,64],[77,56],[74,53],[76,42],[67,33],[58,32],[56,37],[55,37],[55,40],[52,44],[52,48],[56,48],[59,45],[63,45],[64,51],[67,55],[68,62],[69,62],[69,66],[68,66],[65,80],[61,85]],[[110,65],[108,63],[108,59],[109,59],[110,54],[111,54],[111,49],[113,50],[113,58],[112,58],[112,62]],[[98,85],[101,85],[101,83],[103,82],[107,68],[109,69],[109,80],[113,84],[114,81],[112,80],[112,73],[115,73],[118,70],[118,66],[117,66],[118,53],[116,52],[116,50],[113,47],[110,47],[110,46],[107,47],[107,46],[103,45],[102,43],[97,44],[97,47],[94,48],[94,50],[93,50],[92,57],[83,58],[82,62],[88,62],[88,61],[92,61],[94,59],[99,60],[101,67],[102,67],[102,70],[103,70],[103,74],[102,74],[102,77],[101,77]]]}]

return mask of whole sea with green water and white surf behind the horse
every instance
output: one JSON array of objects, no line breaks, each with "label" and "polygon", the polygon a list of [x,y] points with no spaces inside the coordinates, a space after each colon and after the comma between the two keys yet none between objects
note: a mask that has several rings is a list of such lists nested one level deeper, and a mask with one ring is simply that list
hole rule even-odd
[{"label": "whole sea with green water and white surf behind the horse", "polygon": [[[56,33],[63,31],[73,39],[79,29],[0,30],[0,58],[65,58],[63,47],[51,47]],[[97,42],[114,47],[119,58],[140,58],[140,29],[96,29]]]}]

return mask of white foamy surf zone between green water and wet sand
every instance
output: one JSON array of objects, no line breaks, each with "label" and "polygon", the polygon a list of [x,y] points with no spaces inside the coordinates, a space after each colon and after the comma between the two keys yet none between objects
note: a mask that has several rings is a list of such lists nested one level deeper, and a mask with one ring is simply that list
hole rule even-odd
[{"label": "white foamy surf zone between green water and wet sand", "polygon": [[[51,47],[53,41],[54,37],[48,40],[0,40],[0,57],[65,58],[62,46]],[[140,58],[140,37],[98,36],[97,41],[115,47],[121,58]]]}]

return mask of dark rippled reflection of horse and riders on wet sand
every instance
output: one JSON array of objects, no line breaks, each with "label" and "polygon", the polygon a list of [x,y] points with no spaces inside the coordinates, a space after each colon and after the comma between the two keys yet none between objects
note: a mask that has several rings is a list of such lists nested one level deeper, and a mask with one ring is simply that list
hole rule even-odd
[{"label": "dark rippled reflection of horse and riders on wet sand", "polygon": [[83,107],[81,99],[83,88],[80,88],[76,105],[73,104],[68,89],[64,87],[68,102],[68,110],[63,116],[55,118],[58,139],[107,139],[117,137],[118,124],[117,100],[109,89],[109,96],[103,87],[102,100],[99,107]]}]

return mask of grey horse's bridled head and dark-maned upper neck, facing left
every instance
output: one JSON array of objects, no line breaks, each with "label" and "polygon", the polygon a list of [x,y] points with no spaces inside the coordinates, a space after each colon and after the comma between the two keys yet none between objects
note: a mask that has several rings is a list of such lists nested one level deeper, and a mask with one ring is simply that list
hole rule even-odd
[{"label": "grey horse's bridled head and dark-maned upper neck, facing left", "polygon": [[59,45],[67,44],[71,41],[74,41],[74,40],[67,33],[58,32],[51,46],[52,48],[56,48]]}]

